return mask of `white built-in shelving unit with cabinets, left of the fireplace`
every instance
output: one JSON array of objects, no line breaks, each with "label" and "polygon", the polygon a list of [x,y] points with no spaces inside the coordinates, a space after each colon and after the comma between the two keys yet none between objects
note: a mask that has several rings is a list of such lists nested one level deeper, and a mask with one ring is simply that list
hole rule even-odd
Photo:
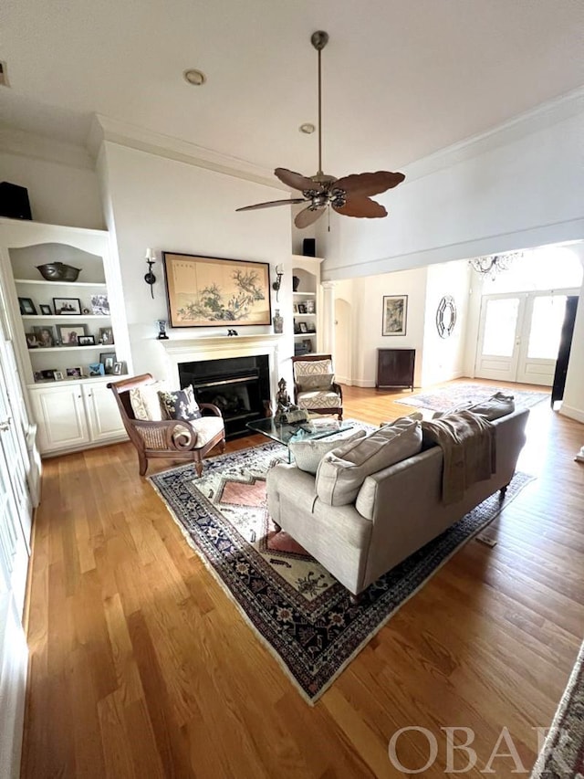
[{"label": "white built-in shelving unit with cabinets, left of the fireplace", "polygon": [[[107,387],[130,368],[120,273],[109,247],[102,230],[0,219],[11,338],[44,454],[126,437]],[[44,279],[38,266],[53,262],[78,268],[78,280]]]}]

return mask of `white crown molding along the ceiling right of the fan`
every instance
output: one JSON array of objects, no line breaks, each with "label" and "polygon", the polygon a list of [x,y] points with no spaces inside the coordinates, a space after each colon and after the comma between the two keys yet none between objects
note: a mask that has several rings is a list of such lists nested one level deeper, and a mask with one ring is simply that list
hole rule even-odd
[{"label": "white crown molding along the ceiling right of the fan", "polygon": [[415,179],[506,146],[582,113],[584,113],[584,87],[574,89],[554,100],[547,100],[535,109],[518,114],[492,130],[465,138],[464,141],[453,143],[452,146],[446,146],[412,163],[401,164],[399,167],[405,170],[407,176],[404,184],[407,185]]}]

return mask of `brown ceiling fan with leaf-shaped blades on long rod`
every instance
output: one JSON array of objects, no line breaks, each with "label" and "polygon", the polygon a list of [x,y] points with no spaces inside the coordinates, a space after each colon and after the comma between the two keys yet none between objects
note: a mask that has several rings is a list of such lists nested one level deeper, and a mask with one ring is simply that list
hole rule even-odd
[{"label": "brown ceiling fan with leaf-shaped blades on long rod", "polygon": [[256,203],[236,208],[236,211],[254,211],[256,208],[271,208],[273,205],[293,205],[308,203],[294,219],[297,227],[308,227],[322,216],[330,205],[337,214],[342,216],[358,216],[368,219],[387,216],[387,211],[381,203],[370,199],[370,195],[380,195],[398,184],[405,178],[404,174],[390,171],[377,171],[371,174],[350,174],[335,178],[322,172],[322,100],[321,100],[321,69],[320,53],[328,43],[328,33],[318,30],[310,37],[312,46],[318,51],[318,173],[313,176],[289,171],[287,168],[276,168],[274,174],[287,186],[299,189],[302,197],[288,200],[272,200],[269,203]]}]

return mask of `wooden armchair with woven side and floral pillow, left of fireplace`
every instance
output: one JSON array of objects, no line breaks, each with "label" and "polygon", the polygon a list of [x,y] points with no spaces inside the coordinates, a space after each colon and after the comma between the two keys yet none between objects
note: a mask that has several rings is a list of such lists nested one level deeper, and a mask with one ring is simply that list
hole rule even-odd
[{"label": "wooden armchair with woven side and floral pillow, left of fireplace", "polygon": [[[201,476],[203,458],[207,453],[217,445],[222,452],[225,448],[225,427],[221,411],[216,405],[201,403],[198,408],[203,416],[198,419],[161,419],[156,407],[158,403],[160,409],[158,385],[151,374],[108,384],[116,398],[126,432],[138,452],[140,475],[145,475],[149,458],[168,458],[193,462],[197,475]],[[151,395],[151,416],[159,418],[136,418],[132,397],[135,401],[137,395],[131,395],[134,390],[141,390],[141,400],[148,399],[148,395]]]}]

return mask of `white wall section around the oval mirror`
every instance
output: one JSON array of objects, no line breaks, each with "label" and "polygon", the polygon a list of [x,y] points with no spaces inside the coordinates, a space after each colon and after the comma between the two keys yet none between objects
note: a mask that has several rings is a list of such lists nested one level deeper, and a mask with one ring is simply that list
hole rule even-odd
[{"label": "white wall section around the oval mirror", "polygon": [[[468,263],[464,260],[431,265],[428,268],[422,386],[464,376],[469,272]],[[452,295],[456,306],[454,331],[448,338],[441,338],[436,328],[436,311],[444,295]]]}]

